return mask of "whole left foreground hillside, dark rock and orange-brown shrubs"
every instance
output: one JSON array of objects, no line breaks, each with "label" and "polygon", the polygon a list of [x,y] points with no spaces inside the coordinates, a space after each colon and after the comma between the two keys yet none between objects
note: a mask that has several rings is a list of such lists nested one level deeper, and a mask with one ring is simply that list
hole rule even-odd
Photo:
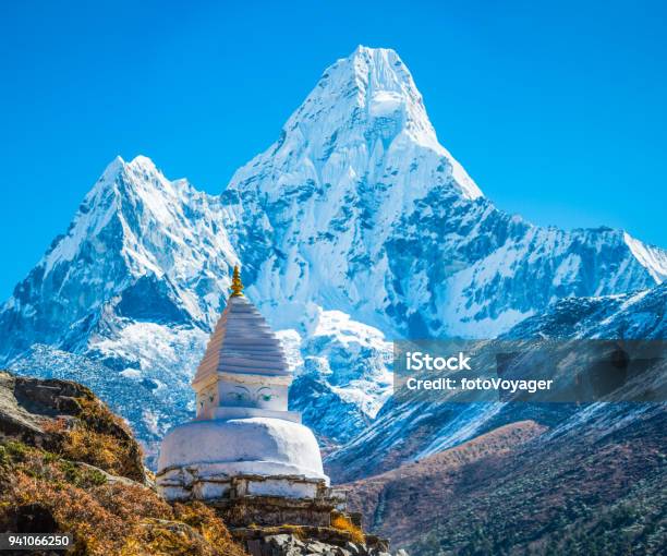
[{"label": "whole left foreground hillside, dark rock and orange-brown shrubs", "polygon": [[90,390],[4,372],[0,531],[72,533],[77,555],[244,554],[211,509],[155,493],[138,444]]}]

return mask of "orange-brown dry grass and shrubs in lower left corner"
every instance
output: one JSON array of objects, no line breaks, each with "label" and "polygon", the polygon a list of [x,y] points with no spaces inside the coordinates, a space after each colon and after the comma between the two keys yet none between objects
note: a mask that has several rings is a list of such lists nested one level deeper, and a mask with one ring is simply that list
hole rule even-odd
[{"label": "orange-brown dry grass and shrubs in lower left corner", "polygon": [[71,532],[74,554],[242,556],[214,511],[171,507],[140,484],[108,481],[99,470],[17,442],[0,444],[0,530],[37,505]]}]

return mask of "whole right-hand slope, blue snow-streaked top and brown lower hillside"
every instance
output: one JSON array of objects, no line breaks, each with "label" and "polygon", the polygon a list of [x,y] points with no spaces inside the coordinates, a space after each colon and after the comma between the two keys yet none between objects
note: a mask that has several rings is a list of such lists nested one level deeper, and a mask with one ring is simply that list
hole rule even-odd
[{"label": "whole right-hand slope, blue snow-streaked top and brown lower hillside", "polygon": [[[568,298],[506,338],[664,340],[666,291],[663,283],[622,295]],[[667,365],[664,359],[657,365],[652,376],[664,391]],[[644,386],[648,378],[639,377]],[[409,411],[416,426],[404,420]],[[526,416],[543,425],[522,421]],[[422,420],[440,427],[425,430]],[[665,402],[514,402],[463,411],[448,403],[395,406],[383,409],[364,438],[333,454],[329,466],[339,478],[386,469],[383,456],[391,459],[392,451],[377,443],[404,431],[393,452],[404,451],[389,462],[390,471],[345,488],[367,527],[391,534],[411,554],[662,554],[666,421]]]}]

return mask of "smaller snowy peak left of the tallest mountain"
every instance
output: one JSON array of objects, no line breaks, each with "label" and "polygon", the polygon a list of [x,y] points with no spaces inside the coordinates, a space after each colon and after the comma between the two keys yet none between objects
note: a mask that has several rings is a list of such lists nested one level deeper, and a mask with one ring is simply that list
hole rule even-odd
[{"label": "smaller snowy peak left of the tallest mountain", "polygon": [[218,197],[168,180],[149,158],[114,158],[5,303],[2,359],[37,339],[88,349],[119,317],[207,330],[239,261],[223,213]]}]

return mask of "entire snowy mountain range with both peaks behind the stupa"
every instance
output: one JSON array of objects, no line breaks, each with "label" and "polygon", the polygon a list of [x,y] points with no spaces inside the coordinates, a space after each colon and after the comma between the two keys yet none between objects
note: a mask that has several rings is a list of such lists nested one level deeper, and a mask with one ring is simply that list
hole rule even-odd
[{"label": "entire snowy mountain range with both peaks behind the stupa", "polygon": [[105,383],[119,396],[105,399],[153,440],[192,409],[189,380],[241,263],[246,294],[289,330],[292,406],[337,444],[383,414],[389,340],[496,336],[560,298],[651,288],[665,261],[620,231],[498,210],[439,144],[398,55],[360,47],[220,197],[148,158],[113,160],[3,305],[0,363],[48,345],[59,355],[41,362],[74,352],[92,382],[97,364],[109,384],[142,384],[142,412],[125,386]]}]

